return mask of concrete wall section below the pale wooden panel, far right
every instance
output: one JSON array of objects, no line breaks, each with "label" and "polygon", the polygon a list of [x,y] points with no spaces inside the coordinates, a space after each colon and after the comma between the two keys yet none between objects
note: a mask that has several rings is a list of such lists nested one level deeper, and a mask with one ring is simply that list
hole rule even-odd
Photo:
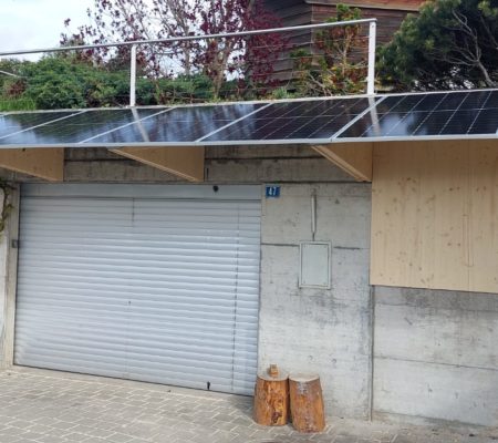
[{"label": "concrete wall section below the pale wooden panel, far right", "polygon": [[498,295],[375,288],[374,416],[498,425]]}]

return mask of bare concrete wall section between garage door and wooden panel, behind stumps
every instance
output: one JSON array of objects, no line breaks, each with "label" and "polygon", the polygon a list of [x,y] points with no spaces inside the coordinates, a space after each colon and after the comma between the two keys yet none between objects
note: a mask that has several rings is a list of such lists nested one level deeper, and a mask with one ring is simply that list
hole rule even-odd
[{"label": "bare concrete wall section between garage door and wooden panel, behind stumps", "polygon": [[[332,243],[330,290],[300,289],[299,241]],[[326,413],[367,419],[371,380],[370,185],[282,186],[263,200],[259,367],[321,377]]]}]

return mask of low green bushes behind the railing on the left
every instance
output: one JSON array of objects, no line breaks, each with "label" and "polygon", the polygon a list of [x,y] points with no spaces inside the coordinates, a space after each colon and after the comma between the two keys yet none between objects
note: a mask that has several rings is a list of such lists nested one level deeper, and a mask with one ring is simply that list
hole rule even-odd
[{"label": "low green bushes behind the railing on the left", "polygon": [[[155,81],[138,75],[136,89],[139,105],[206,102],[214,97],[210,79],[200,74]],[[71,54],[44,56],[37,62],[0,62],[1,111],[105,107],[128,103],[129,73],[116,69],[112,59],[97,65]]]}]

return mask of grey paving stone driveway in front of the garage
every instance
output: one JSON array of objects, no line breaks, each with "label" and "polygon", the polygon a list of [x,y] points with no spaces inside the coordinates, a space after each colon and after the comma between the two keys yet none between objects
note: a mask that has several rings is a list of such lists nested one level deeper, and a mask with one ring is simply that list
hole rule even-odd
[{"label": "grey paving stone driveway in front of the garage", "polygon": [[498,430],[489,429],[330,422],[326,432],[305,435],[255,424],[251,399],[243,396],[24,368],[0,371],[0,443],[498,441]]}]

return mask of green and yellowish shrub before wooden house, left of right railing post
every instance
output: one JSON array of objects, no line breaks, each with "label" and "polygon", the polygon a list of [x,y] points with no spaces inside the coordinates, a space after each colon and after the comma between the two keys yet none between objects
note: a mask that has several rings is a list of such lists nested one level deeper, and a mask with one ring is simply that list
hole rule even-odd
[{"label": "green and yellowish shrub before wooden house, left of right railing post", "polygon": [[[361,11],[338,4],[336,17],[328,22],[359,20]],[[360,24],[329,28],[313,35],[311,51],[291,52],[294,60],[293,83],[304,96],[355,94],[364,92],[365,41]]]}]

